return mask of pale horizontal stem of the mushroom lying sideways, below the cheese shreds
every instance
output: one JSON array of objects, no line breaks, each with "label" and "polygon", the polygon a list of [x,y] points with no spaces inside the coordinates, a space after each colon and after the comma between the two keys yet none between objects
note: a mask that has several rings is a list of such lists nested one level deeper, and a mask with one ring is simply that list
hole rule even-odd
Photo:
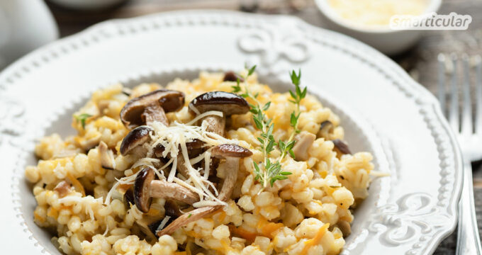
[{"label": "pale horizontal stem of the mushroom lying sideways, below the cheese shreds", "polygon": [[199,196],[189,188],[185,188],[177,183],[155,180],[150,184],[150,196],[152,198],[169,198],[178,200],[189,205],[199,201]]}]

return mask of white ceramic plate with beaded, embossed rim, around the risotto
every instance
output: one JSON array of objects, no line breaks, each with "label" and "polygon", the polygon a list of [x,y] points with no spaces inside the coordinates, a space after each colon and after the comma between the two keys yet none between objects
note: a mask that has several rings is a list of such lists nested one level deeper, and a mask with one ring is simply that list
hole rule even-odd
[{"label": "white ceramic plate with beaded, embossed rim, around the risotto", "polygon": [[6,254],[58,254],[33,223],[23,169],[35,140],[72,133],[70,114],[115,81],[193,78],[198,70],[258,64],[286,90],[289,69],[340,114],[354,151],[379,171],[355,212],[343,254],[431,254],[456,225],[461,157],[435,98],[366,45],[288,16],[183,11],[108,21],[23,57],[0,74],[0,212]]}]

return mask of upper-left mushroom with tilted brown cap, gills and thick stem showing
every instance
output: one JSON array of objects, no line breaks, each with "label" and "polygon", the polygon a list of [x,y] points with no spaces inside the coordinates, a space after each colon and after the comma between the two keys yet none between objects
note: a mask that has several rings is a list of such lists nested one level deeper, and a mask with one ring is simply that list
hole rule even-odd
[{"label": "upper-left mushroom with tilted brown cap, gills and thick stem showing", "polygon": [[158,89],[133,98],[120,111],[120,120],[127,128],[150,125],[159,121],[168,125],[166,113],[177,111],[184,106],[184,93],[168,89]]}]

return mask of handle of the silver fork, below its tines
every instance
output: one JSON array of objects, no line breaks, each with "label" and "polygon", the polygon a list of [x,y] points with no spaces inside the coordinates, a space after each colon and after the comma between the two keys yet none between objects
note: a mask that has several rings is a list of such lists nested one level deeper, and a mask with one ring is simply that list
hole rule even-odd
[{"label": "handle of the silver fork, below its tines", "polygon": [[482,255],[481,239],[478,236],[477,218],[473,200],[472,165],[464,159],[464,186],[459,202],[459,231],[457,233],[457,255]]}]

